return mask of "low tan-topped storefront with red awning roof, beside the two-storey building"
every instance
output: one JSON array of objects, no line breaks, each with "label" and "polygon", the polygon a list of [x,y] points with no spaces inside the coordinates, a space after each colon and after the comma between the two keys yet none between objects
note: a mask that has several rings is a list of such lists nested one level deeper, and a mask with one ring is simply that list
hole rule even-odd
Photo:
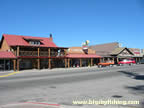
[{"label": "low tan-topped storefront with red awning roof, beside the two-storey building", "polygon": [[67,50],[68,67],[94,66],[100,62],[101,56],[90,48],[70,47]]}]

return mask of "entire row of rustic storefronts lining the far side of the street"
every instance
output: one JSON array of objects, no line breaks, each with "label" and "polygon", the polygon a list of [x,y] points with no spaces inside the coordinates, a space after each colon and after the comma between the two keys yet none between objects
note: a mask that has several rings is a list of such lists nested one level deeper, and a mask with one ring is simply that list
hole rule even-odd
[{"label": "entire row of rustic storefronts lining the far side of the street", "polygon": [[143,58],[140,49],[121,47],[118,42],[82,47],[58,47],[53,37],[3,34],[0,42],[0,70],[51,69],[94,66],[100,62]]}]

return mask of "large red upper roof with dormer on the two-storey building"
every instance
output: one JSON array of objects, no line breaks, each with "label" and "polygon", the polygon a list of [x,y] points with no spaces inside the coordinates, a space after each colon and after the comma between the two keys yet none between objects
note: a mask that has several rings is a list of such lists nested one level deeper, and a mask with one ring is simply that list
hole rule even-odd
[{"label": "large red upper roof with dormer on the two-storey building", "polygon": [[3,38],[6,40],[9,46],[37,46],[30,45],[25,39],[40,40],[42,43],[39,47],[57,47],[56,44],[51,41],[50,38],[23,36],[23,35],[9,35],[3,34]]}]

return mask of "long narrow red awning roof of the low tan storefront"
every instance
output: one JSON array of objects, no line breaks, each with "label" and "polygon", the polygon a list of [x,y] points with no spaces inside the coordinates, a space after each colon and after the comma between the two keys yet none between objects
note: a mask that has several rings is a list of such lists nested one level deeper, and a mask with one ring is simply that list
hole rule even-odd
[{"label": "long narrow red awning roof of the low tan storefront", "polygon": [[101,58],[96,54],[68,54],[68,58]]}]

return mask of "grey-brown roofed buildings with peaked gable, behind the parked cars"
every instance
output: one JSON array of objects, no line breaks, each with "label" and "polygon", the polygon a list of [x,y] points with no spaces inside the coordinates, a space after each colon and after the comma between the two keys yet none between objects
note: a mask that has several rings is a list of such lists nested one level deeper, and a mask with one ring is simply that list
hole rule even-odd
[{"label": "grey-brown roofed buildings with peaked gable, behind the parked cars", "polygon": [[102,56],[101,62],[113,60],[117,64],[122,59],[134,58],[138,63],[143,58],[143,53],[140,52],[140,49],[121,47],[118,42],[92,45],[89,48]]}]

